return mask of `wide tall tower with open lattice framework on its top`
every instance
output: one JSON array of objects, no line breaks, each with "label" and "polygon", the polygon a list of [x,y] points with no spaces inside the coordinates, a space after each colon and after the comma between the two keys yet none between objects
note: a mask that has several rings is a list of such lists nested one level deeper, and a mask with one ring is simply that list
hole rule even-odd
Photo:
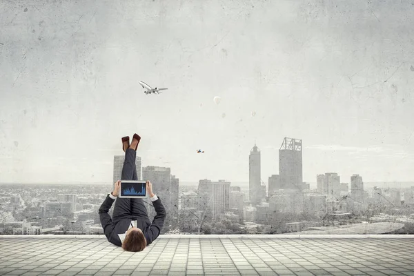
[{"label": "wide tall tower with open lattice framework on its top", "polygon": [[284,138],[279,149],[279,175],[284,189],[302,190],[302,140]]}]

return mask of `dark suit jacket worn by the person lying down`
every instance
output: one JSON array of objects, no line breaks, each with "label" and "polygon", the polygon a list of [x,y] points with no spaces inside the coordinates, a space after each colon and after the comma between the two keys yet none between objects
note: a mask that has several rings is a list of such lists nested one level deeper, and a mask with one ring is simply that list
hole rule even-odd
[{"label": "dark suit jacket worn by the person lying down", "polygon": [[[110,198],[109,194],[106,196],[105,201],[103,201],[103,204],[98,211],[99,219],[101,219],[103,233],[106,235],[108,242],[115,244],[116,246],[122,246],[118,234],[124,234],[125,231],[128,230],[131,221],[135,220],[135,218],[132,219],[132,217],[130,217],[128,219],[120,219],[114,223],[108,214],[114,201],[115,199]],[[164,220],[166,219],[166,209],[164,208],[164,205],[162,205],[159,197],[157,200],[152,201],[152,206],[154,206],[155,212],[157,212],[157,215],[155,215],[152,220],[152,224],[148,224],[148,221],[139,218],[136,219],[137,228],[140,228],[144,233],[147,240],[147,246],[157,239],[159,233],[161,233],[162,226],[164,226]]]}]

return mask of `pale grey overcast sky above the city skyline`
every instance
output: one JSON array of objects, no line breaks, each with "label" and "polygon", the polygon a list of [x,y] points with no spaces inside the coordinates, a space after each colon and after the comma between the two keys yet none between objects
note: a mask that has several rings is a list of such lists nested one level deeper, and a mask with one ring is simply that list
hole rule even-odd
[{"label": "pale grey overcast sky above the city skyline", "polygon": [[1,1],[0,182],[111,182],[134,132],[181,181],[248,181],[256,141],[267,183],[284,137],[304,181],[413,181],[413,5]]}]

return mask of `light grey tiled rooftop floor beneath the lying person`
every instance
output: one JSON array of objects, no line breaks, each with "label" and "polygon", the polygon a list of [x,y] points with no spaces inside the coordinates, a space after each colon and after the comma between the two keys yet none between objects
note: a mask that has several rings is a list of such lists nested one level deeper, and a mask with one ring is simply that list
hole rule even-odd
[{"label": "light grey tiled rooftop floor beneath the lying person", "polygon": [[318,236],[161,235],[140,253],[103,235],[2,236],[0,275],[414,275],[412,238]]}]

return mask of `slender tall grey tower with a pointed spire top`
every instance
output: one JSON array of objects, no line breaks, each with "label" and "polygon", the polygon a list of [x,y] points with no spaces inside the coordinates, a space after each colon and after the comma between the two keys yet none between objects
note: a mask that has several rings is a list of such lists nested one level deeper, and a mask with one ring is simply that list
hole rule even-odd
[{"label": "slender tall grey tower with a pointed spire top", "polygon": [[255,146],[250,150],[248,157],[248,188],[250,195],[250,203],[253,205],[260,204],[262,194],[262,181],[260,171],[260,150]]}]

